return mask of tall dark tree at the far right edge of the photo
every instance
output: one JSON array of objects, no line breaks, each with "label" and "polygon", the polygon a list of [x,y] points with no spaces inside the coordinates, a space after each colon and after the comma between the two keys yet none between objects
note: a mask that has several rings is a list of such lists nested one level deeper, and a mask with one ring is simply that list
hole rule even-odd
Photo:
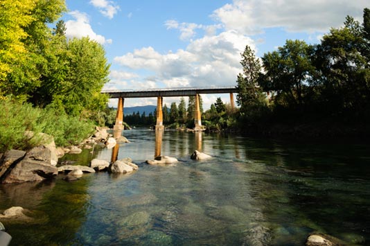
[{"label": "tall dark tree at the far right edge of the photo", "polygon": [[315,50],[321,104],[331,112],[369,112],[369,15],[364,9],[362,26],[347,16],[344,27],[332,28]]}]

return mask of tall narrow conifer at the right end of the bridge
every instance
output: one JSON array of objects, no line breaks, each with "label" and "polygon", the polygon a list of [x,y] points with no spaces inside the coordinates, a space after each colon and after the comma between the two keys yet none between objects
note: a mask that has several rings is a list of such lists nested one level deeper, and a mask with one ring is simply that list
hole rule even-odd
[{"label": "tall narrow conifer at the right end of the bridge", "polygon": [[263,105],[265,96],[261,87],[258,86],[258,76],[261,73],[261,63],[254,55],[249,46],[245,46],[240,64],[243,66],[243,74],[238,74],[236,103],[240,106],[242,114],[250,112],[251,107]]}]

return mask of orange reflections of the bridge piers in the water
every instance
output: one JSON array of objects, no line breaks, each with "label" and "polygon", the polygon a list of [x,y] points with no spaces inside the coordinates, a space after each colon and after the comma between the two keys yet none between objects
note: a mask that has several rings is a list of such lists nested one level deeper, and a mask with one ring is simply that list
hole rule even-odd
[{"label": "orange reflections of the bridge piers in the water", "polygon": [[[195,150],[198,150],[202,152],[203,149],[203,142],[202,142],[202,131],[195,131],[194,134],[194,141],[195,141]],[[157,128],[155,130],[155,151],[154,151],[154,157],[160,157],[161,156],[161,150],[162,150],[162,141],[164,137],[164,129],[163,128]],[[129,143],[132,144],[132,143]],[[112,157],[111,162],[114,163],[118,159],[118,151],[119,151],[120,145],[119,143],[116,143],[116,146],[112,148]],[[190,154],[190,153],[189,153]],[[170,155],[168,153],[167,155]]]}]

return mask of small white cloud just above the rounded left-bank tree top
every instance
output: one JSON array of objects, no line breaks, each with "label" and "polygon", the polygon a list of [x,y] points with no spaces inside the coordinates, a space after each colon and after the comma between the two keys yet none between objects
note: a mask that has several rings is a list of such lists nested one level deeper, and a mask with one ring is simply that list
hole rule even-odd
[{"label": "small white cloud just above the rounded left-bank tree top", "polygon": [[74,20],[69,20],[66,22],[66,36],[68,38],[72,37],[90,37],[99,44],[111,44],[112,39],[105,39],[103,35],[98,35],[94,32],[89,24],[89,17],[84,12],[79,12],[78,10],[69,12],[69,15],[74,17]]}]

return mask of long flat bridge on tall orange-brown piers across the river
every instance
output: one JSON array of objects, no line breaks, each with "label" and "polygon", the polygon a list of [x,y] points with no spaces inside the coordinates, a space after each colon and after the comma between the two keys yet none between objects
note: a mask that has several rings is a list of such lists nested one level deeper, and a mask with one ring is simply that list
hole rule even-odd
[{"label": "long flat bridge on tall orange-brown piers across the river", "polygon": [[200,94],[230,94],[230,104],[234,107],[234,94],[238,92],[236,87],[181,87],[181,88],[157,88],[146,90],[103,90],[101,93],[108,94],[109,98],[118,98],[118,107],[116,114],[116,123],[114,125],[114,137],[121,136],[123,130],[123,104],[125,98],[149,98],[157,97],[157,123],[156,130],[164,129],[163,125],[163,98],[175,96],[194,96],[195,97],[195,110],[194,110],[194,123],[195,130],[202,130],[202,122],[200,115]]}]

